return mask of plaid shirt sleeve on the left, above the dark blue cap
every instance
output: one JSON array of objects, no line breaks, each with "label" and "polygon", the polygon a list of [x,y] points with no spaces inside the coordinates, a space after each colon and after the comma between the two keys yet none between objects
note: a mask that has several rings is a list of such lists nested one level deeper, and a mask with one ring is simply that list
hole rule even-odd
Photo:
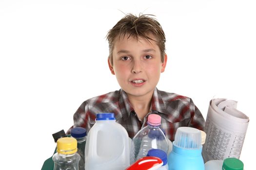
[{"label": "plaid shirt sleeve on the left, above the dark blue cap", "polygon": [[73,116],[74,119],[74,125],[69,128],[66,134],[70,134],[71,129],[74,127],[83,127],[86,129],[86,132],[88,133],[91,129],[92,124],[90,123],[90,109],[89,104],[87,101],[83,102],[76,113]]}]

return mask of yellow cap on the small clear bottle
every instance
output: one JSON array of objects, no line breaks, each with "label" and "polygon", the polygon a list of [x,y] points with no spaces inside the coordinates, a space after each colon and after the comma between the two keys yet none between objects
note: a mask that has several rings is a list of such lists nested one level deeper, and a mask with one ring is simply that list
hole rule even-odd
[{"label": "yellow cap on the small clear bottle", "polygon": [[78,151],[77,139],[73,137],[62,137],[57,140],[57,152],[62,154],[72,154]]}]

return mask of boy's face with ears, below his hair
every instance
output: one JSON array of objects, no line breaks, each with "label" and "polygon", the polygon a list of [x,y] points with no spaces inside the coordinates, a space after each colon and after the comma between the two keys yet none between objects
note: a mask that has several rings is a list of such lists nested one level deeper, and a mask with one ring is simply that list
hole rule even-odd
[{"label": "boy's face with ears, below his hair", "polygon": [[[153,35],[149,37],[156,39]],[[127,35],[114,42],[113,66],[108,61],[109,68],[129,97],[152,95],[166,66],[167,55],[162,63],[157,43],[150,42],[144,38],[127,39]]]}]

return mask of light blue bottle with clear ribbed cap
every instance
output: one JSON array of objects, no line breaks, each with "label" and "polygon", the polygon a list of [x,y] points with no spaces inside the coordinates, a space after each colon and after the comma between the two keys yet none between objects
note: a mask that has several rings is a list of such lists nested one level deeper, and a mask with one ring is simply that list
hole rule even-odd
[{"label": "light blue bottle with clear ribbed cap", "polygon": [[201,132],[191,127],[179,127],[168,155],[169,170],[204,170]]}]

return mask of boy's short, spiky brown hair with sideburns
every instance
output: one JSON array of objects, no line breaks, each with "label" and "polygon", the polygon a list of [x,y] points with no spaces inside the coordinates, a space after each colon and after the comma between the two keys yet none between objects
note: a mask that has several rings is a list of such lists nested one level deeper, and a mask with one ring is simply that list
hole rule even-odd
[{"label": "boy's short, spiky brown hair with sideburns", "polygon": [[[139,15],[139,17],[137,17],[132,14],[128,14],[119,20],[111,30],[109,30],[106,37],[109,43],[109,59],[111,65],[113,65],[114,41],[117,37],[120,39],[121,35],[123,35],[123,37],[127,35],[128,38],[132,36],[137,40],[139,37],[142,37],[146,38],[148,41],[156,41],[161,52],[161,61],[164,61],[165,34],[159,22],[155,18],[149,16],[153,15]],[[150,38],[149,34],[153,34],[157,39],[155,40]]]}]

